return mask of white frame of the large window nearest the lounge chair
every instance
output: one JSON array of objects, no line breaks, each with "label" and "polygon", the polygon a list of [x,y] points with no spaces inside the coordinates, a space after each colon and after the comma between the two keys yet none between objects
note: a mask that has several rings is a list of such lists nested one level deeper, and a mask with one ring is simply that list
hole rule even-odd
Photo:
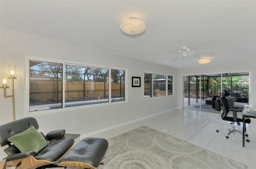
[{"label": "white frame of the large window nearest the lounge chair", "polygon": [[[30,112],[30,60],[34,61],[42,61],[42,62],[54,62],[62,64],[62,108],[56,109],[48,109],[48,110],[40,110],[40,111],[32,111]],[[99,103],[99,104],[88,104],[88,105],[81,105],[81,106],[71,106],[65,107],[65,65],[76,65],[82,67],[93,67],[93,68],[100,68],[100,69],[108,69],[108,102],[106,103]],[[119,102],[111,102],[111,69],[122,70],[124,71],[124,100]],[[36,57],[31,55],[25,55],[25,91],[24,91],[24,115],[25,116],[42,116],[46,114],[55,114],[61,112],[70,112],[76,110],[82,110],[85,108],[97,108],[102,106],[113,106],[115,104],[124,104],[127,103],[127,68],[121,67],[111,67],[111,66],[104,66],[104,65],[96,65],[96,64],[89,64],[89,63],[81,63],[76,61],[67,61],[61,59],[52,59],[47,57]]]}]

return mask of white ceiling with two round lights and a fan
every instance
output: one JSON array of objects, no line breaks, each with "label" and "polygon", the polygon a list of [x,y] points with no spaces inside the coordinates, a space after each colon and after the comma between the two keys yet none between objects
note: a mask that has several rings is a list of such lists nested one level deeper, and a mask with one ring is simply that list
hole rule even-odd
[{"label": "white ceiling with two round lights and a fan", "polygon": [[[176,68],[256,57],[255,0],[0,0],[0,27]],[[146,31],[128,35],[136,17]],[[174,62],[178,49],[200,51]]]}]

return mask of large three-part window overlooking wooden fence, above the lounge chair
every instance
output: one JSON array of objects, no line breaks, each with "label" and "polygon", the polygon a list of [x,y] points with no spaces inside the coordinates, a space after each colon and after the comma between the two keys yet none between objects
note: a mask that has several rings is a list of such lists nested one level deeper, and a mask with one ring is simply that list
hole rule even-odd
[{"label": "large three-part window overlooking wooden fence, above the lounge chair", "polygon": [[38,60],[29,60],[29,112],[125,100],[125,70]]}]

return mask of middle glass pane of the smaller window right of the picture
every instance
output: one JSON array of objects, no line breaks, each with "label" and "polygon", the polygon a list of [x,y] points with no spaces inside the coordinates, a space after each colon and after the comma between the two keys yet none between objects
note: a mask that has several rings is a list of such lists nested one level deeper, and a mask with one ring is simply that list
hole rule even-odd
[{"label": "middle glass pane of the smaller window right of the picture", "polygon": [[166,76],[153,74],[153,96],[166,96]]}]

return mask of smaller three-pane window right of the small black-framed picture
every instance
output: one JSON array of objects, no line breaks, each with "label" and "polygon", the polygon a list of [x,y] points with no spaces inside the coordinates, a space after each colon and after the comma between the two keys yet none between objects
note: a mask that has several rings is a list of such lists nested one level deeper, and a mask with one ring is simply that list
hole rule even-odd
[{"label": "smaller three-pane window right of the small black-framed picture", "polygon": [[144,73],[144,98],[172,95],[172,84],[173,76]]}]

